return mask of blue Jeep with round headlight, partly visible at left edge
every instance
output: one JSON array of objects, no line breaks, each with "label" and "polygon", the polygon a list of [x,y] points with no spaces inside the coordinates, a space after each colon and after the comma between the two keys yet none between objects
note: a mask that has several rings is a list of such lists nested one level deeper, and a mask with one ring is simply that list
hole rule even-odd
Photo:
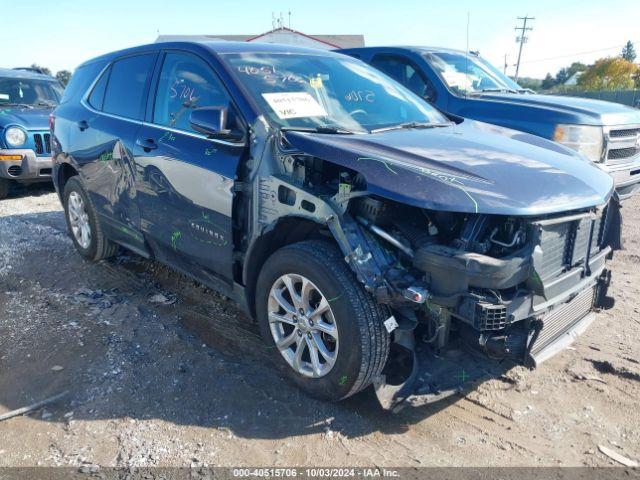
[{"label": "blue Jeep with round headlight, partly visible at left edge", "polygon": [[51,181],[49,114],[62,92],[48,75],[0,68],[0,199],[11,182]]}]

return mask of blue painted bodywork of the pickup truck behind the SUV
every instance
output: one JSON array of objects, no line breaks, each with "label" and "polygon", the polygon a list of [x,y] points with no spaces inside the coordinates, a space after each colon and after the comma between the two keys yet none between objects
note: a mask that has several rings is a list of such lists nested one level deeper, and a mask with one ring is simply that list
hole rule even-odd
[{"label": "blue painted bodywork of the pickup truck behind the SUV", "polygon": [[[456,94],[448,88],[444,79],[432,68],[426,56],[429,53],[464,55],[464,52],[457,50],[401,46],[366,47],[339,51],[360,58],[366,63],[374,62],[378,55],[389,55],[403,59],[422,76],[424,81],[432,86],[435,100],[433,98],[427,98],[427,100],[441,111],[449,114],[512,128],[546,139],[554,138],[556,126],[559,124],[603,127],[603,156],[605,157],[608,155],[607,148],[609,146],[616,150],[627,149],[631,146],[626,141],[624,145],[620,145],[621,138],[610,137],[607,133],[608,128],[612,130],[640,128],[640,110],[617,103],[588,98],[538,95],[527,91]],[[637,136],[637,142],[637,145],[640,145],[640,136]],[[633,139],[631,143],[633,143]],[[638,149],[637,146],[636,149]],[[640,191],[640,174],[638,174],[640,153],[632,155],[628,159],[625,157],[624,161],[618,160],[621,157],[611,158],[614,160],[604,158],[598,163],[598,166],[614,178],[617,197],[623,200]]]}]

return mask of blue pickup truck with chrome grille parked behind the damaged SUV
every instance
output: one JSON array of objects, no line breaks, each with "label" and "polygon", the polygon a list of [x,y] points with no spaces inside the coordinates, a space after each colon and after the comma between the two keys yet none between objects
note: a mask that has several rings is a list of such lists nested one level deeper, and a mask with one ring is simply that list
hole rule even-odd
[{"label": "blue pickup truck with chrome grille parked behind the damaged SUV", "polygon": [[640,190],[640,111],[617,103],[538,95],[477,53],[437,47],[339,50],[444,112],[555,140],[608,172],[620,199]]}]

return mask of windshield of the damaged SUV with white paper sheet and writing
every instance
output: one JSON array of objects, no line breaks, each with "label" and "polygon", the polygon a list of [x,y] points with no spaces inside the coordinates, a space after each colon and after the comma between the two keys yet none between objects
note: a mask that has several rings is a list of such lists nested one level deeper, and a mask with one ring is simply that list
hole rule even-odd
[{"label": "windshield of the damaged SUV with white paper sheet and writing", "polygon": [[448,120],[409,90],[349,57],[224,54],[238,80],[280,127],[369,132]]}]

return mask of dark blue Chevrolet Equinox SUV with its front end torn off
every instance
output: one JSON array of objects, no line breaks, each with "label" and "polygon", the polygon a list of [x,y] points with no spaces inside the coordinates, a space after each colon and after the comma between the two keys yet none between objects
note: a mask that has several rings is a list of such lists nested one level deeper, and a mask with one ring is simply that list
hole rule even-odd
[{"label": "dark blue Chevrolet Equinox SUV with its front end torn off", "polygon": [[122,246],[237,300],[319,398],[434,401],[539,364],[610,303],[609,175],[353,58],[136,47],[81,65],[52,123],[80,255]]}]

